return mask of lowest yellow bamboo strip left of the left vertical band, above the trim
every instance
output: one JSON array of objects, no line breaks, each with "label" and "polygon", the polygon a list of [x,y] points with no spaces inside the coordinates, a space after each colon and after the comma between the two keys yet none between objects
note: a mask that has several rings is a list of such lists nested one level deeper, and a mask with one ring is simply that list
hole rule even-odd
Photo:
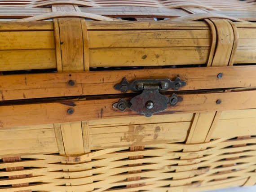
[{"label": "lowest yellow bamboo strip left of the left vertical band, above the trim", "polygon": [[0,71],[57,68],[55,49],[0,50]]}]

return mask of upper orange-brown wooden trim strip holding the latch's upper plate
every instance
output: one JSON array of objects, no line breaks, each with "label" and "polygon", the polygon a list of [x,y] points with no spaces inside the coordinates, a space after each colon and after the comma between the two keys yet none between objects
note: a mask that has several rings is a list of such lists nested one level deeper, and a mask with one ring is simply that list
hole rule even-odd
[{"label": "upper orange-brown wooden trim strip holding the latch's upper plate", "polygon": [[[223,74],[221,79],[217,75]],[[181,91],[256,86],[256,66],[199,67],[176,69],[119,70],[50,74],[21,74],[0,76],[0,100],[90,96],[121,93],[114,89],[124,77],[135,79],[175,79],[187,82]],[[70,86],[73,80],[75,85]]]}]

